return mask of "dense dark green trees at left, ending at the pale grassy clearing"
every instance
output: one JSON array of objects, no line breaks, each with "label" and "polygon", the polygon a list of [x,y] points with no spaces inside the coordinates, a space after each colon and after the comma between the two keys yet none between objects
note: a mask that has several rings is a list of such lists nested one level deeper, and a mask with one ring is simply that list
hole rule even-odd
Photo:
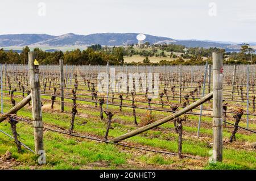
[{"label": "dense dark green trees at left, ending at the pale grassy clearing", "polygon": [[[72,51],[62,52],[46,52],[39,48],[34,48],[36,52],[36,60],[39,64],[59,64],[59,60],[63,59],[64,64],[69,65],[106,65],[108,62],[110,65],[123,64],[123,49],[116,47],[112,53],[107,53],[99,50],[98,45],[88,47],[86,50],[75,49]],[[30,48],[24,47],[19,54],[13,50],[5,51],[0,49],[0,63],[5,64],[27,64],[28,52]]]}]

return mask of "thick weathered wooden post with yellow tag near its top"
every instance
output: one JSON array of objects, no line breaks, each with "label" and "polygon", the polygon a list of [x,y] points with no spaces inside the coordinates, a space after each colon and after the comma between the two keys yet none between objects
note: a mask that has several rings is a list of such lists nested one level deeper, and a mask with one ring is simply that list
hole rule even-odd
[{"label": "thick weathered wooden post with yellow tag near its top", "polygon": [[35,59],[35,52],[28,52],[28,66],[30,70],[35,152],[36,154],[39,154],[40,150],[43,150],[43,121],[40,98],[39,65]]}]

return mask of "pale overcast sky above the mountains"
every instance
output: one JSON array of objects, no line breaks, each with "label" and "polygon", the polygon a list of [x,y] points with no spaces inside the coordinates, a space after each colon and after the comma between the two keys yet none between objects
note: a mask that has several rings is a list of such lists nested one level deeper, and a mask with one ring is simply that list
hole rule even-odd
[{"label": "pale overcast sky above the mountains", "polygon": [[244,42],[256,41],[256,1],[1,0],[0,22],[0,35],[135,32]]}]

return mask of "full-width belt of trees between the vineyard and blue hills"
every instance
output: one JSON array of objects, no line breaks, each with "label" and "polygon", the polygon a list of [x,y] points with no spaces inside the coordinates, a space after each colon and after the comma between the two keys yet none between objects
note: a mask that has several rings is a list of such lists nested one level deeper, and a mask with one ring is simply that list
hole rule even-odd
[{"label": "full-width belt of trees between the vineyard and blue hills", "polygon": [[[203,65],[205,61],[212,62],[212,53],[221,52],[224,58],[224,64],[256,64],[256,56],[254,49],[249,47],[249,44],[241,46],[240,52],[225,52],[225,49],[219,48],[187,48],[183,45],[163,44],[150,45],[145,43],[140,48],[135,48],[134,45],[126,47],[102,47],[99,44],[92,45],[86,50],[75,49],[72,51],[55,51],[46,52],[40,48],[34,48],[36,59],[39,64],[59,64],[59,60],[63,59],[64,64],[69,65],[122,65],[125,64],[125,56],[139,55],[145,57],[142,62],[130,62],[127,65]],[[0,63],[5,64],[27,64],[28,52],[30,48],[24,47],[21,53],[13,50],[5,51],[0,49]],[[174,58],[174,61],[167,61],[165,57]],[[181,53],[180,56],[174,52]],[[160,57],[158,63],[150,62],[150,57]],[[162,60],[161,60],[162,59]]]}]

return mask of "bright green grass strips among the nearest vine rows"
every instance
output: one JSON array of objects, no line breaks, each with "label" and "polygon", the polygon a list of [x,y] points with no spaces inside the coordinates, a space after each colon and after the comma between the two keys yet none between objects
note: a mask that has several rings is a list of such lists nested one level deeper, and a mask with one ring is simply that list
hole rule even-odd
[{"label": "bright green grass strips among the nearest vine rows", "polygon": [[[15,94],[20,95],[20,94]],[[48,96],[42,96],[42,99],[49,99]],[[15,97],[16,102],[19,102],[21,98]],[[10,98],[5,97],[4,99],[4,112],[10,110]],[[65,102],[71,103],[72,100],[65,100]],[[84,102],[78,101],[77,103],[85,104]],[[128,103],[128,102],[127,102]],[[79,108],[79,113],[90,115],[89,117],[76,116],[76,123],[82,123],[86,121],[85,125],[75,124],[75,132],[77,133],[89,133],[103,137],[105,135],[106,121],[101,121],[99,118],[100,112],[98,108],[94,108],[94,103],[86,103],[91,108]],[[207,104],[205,104],[207,105]],[[59,105],[56,105],[59,107]],[[109,106],[110,110],[115,110],[116,107]],[[122,123],[112,123],[114,129],[110,129],[109,137],[117,137],[133,129],[136,129],[133,124],[133,116],[131,115],[132,110],[130,108],[123,108],[123,112],[117,113],[113,117]],[[137,114],[143,116],[144,110],[137,109]],[[164,117],[169,115],[168,112],[153,111],[153,114],[157,117]],[[31,118],[31,110],[28,107],[22,108],[18,115]],[[104,115],[106,117],[106,115]],[[138,116],[138,123],[140,123],[140,117]],[[189,120],[198,121],[197,116],[188,117]],[[69,120],[71,120],[71,107],[65,106],[65,112],[43,112],[43,122],[53,127],[61,127],[64,129],[69,128]],[[203,122],[211,124],[212,119],[210,117],[203,117]],[[245,126],[245,123],[240,125]],[[254,123],[250,124],[251,128],[255,128]],[[158,129],[151,129],[145,133],[139,134],[138,136],[131,137],[126,142],[133,144],[142,144],[150,146],[152,149],[161,149],[171,152],[177,152],[177,134],[174,132],[174,125],[172,123],[166,123],[160,126],[164,131]],[[11,134],[10,125],[7,121],[0,124],[0,129]],[[199,155],[200,157],[209,157],[209,151],[211,148],[208,147],[207,140],[211,140],[212,128],[201,127],[200,132],[204,134],[208,139],[198,140],[195,137],[186,136],[186,133],[193,134],[196,136],[197,127],[189,127],[186,123],[183,124],[184,136],[183,136],[183,153],[191,155]],[[34,148],[33,129],[31,125],[23,123],[22,121],[17,124],[17,131],[20,134],[20,141],[24,142],[30,148]],[[224,128],[224,138],[230,137],[230,131]],[[255,134],[242,134],[238,131],[236,134],[237,141],[241,142],[253,142],[256,141]],[[136,168],[136,163],[131,165],[129,162],[133,159],[139,160],[146,165],[153,165],[157,168],[158,166],[172,165],[177,162],[177,159],[172,157],[166,157],[162,154],[133,154],[133,149],[123,150],[120,146],[112,144],[105,144],[102,142],[90,141],[82,138],[75,138],[66,136],[60,133],[51,131],[44,132],[44,148],[47,153],[47,164],[40,166],[37,163],[37,157],[23,149],[23,153],[17,153],[16,146],[10,138],[0,133],[0,155],[4,154],[6,150],[10,150],[13,153],[13,157],[17,161],[22,162],[21,166],[16,169],[119,169],[123,167]],[[204,162],[204,169],[255,169],[256,168],[256,153],[254,150],[246,149],[235,149],[232,146],[224,145],[224,161],[223,163],[217,163],[215,165]],[[186,160],[184,161],[184,163]],[[189,163],[188,163],[189,164]]]}]

